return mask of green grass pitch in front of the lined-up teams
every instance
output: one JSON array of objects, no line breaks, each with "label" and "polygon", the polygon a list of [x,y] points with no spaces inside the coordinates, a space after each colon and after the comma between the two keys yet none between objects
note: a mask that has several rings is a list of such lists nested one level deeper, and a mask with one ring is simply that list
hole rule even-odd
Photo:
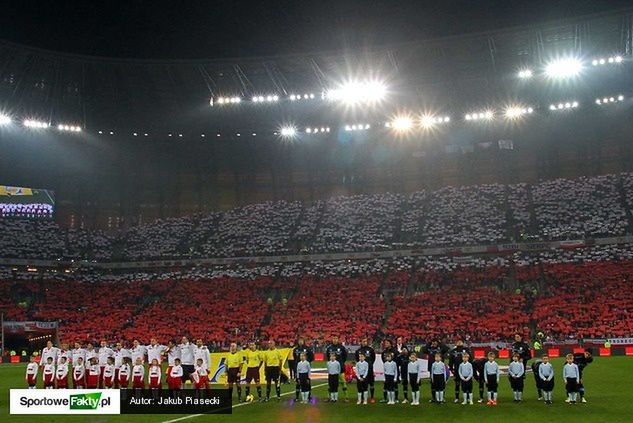
[{"label": "green grass pitch in front of the lined-up teams", "polygon": [[[356,405],[356,386],[352,384],[348,389],[349,403],[342,401],[331,404],[324,401],[328,397],[327,385],[313,389],[313,396],[317,397],[315,405],[292,404],[294,400],[294,383],[282,385],[282,401],[271,400],[268,403],[245,404],[233,409],[232,415],[197,416],[178,420],[179,422],[197,423],[203,421],[283,421],[283,422],[386,422],[386,421],[420,421],[432,419],[434,421],[461,422],[624,422],[631,421],[633,413],[633,386],[630,383],[633,370],[633,358],[609,357],[596,358],[587,367],[584,375],[587,389],[587,404],[568,405],[565,387],[562,381],[563,359],[553,359],[556,371],[556,387],[554,390],[554,404],[547,406],[537,401],[536,388],[531,374],[528,375],[524,390],[524,401],[521,404],[512,402],[512,391],[506,377],[501,378],[499,384],[499,405],[489,407],[477,404],[479,397],[477,383],[474,383],[475,405],[453,404],[453,380],[447,384],[446,404],[429,404],[430,386],[423,381],[421,387],[421,405],[412,407],[409,404],[386,405],[376,402],[365,406]],[[323,363],[315,363],[314,367],[322,367]],[[9,389],[25,388],[24,372],[26,363],[0,365],[0,421],[7,422],[98,422],[98,423],[163,423],[186,417],[186,415],[121,415],[121,416],[19,416],[9,415]],[[315,380],[313,386],[326,381]],[[265,386],[262,386],[265,394]],[[255,394],[256,390],[251,389]],[[271,394],[274,397],[274,389]],[[485,394],[484,394],[485,395]],[[339,390],[340,399],[344,398]],[[376,384],[376,398],[382,398],[382,384]],[[402,399],[402,394],[400,394]],[[461,398],[460,398],[461,400]],[[234,405],[237,405],[235,401]]]}]

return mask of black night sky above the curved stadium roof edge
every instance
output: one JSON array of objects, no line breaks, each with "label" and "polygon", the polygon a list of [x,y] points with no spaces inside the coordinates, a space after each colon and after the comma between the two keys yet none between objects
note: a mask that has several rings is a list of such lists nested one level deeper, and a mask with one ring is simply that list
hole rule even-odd
[{"label": "black night sky above the curved stadium roof edge", "polygon": [[263,56],[364,48],[627,6],[630,0],[3,0],[0,38],[98,56]]}]

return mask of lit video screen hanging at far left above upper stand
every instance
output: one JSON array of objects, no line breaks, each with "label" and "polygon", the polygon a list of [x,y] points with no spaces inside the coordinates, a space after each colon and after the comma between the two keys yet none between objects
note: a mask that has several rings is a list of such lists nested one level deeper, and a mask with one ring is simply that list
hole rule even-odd
[{"label": "lit video screen hanging at far left above upper stand", "polygon": [[0,185],[0,218],[51,219],[54,209],[54,191]]}]

